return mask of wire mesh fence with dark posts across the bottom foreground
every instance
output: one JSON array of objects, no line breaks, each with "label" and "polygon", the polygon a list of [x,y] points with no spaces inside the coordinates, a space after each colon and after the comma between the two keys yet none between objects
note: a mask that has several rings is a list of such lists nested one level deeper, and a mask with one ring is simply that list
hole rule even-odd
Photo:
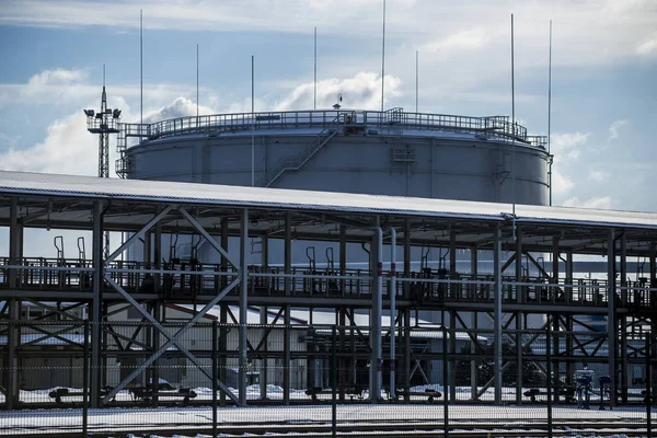
[{"label": "wire mesh fence with dark posts across the bottom foreground", "polygon": [[187,323],[0,322],[0,436],[653,433],[647,333]]}]

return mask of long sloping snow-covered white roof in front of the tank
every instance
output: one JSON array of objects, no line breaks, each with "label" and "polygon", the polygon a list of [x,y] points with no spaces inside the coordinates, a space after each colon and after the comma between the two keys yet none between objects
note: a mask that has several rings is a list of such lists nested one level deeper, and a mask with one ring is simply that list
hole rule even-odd
[{"label": "long sloping snow-covered white roof in front of the tank", "polygon": [[[0,171],[0,193],[504,221],[511,204]],[[517,222],[657,229],[657,214],[516,206]]]}]

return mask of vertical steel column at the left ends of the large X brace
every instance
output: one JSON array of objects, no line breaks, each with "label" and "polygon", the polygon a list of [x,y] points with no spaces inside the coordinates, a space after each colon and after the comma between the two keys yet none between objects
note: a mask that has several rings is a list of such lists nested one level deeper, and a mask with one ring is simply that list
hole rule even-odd
[{"label": "vertical steel column at the left ends of the large X brace", "polygon": [[101,388],[101,324],[103,319],[101,318],[101,303],[102,303],[102,286],[103,286],[103,273],[104,273],[104,258],[103,258],[103,217],[102,217],[103,205],[102,201],[96,200],[93,204],[93,235],[92,235],[92,251],[93,251],[93,300],[91,311],[91,407],[100,406],[100,392]]}]

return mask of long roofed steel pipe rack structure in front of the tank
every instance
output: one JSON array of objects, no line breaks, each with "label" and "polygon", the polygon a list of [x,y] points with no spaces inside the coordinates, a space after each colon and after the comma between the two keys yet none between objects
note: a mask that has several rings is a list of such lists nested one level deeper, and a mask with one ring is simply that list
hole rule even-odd
[{"label": "long roofed steel pipe rack structure in front of the tank", "polygon": [[[221,322],[230,313],[229,306],[239,308],[237,322],[246,321],[250,308],[268,309],[276,313],[275,321],[285,322],[284,327],[290,326],[292,309],[331,309],[337,324],[351,324],[359,343],[369,345],[369,394],[376,403],[379,396],[374,394],[381,393],[383,384],[382,342],[387,341],[368,333],[380,334],[385,328],[381,312],[390,314],[391,307],[396,309],[393,323],[399,335],[393,338],[399,343],[399,353],[393,350],[393,355],[396,354],[400,366],[394,369],[396,387],[406,393],[410,377],[400,370],[411,368],[410,333],[417,328],[412,326],[417,312],[443,313],[443,325],[452,334],[443,342],[448,343],[452,360],[474,357],[457,350],[454,331],[466,333],[476,344],[476,321],[481,315],[489,315],[496,347],[494,379],[488,387],[495,388],[495,402],[500,403],[505,367],[510,361],[529,360],[523,353],[538,337],[516,337],[521,348],[509,358],[502,351],[503,333],[511,324],[516,330],[529,331],[527,316],[539,314],[544,315],[544,325],[535,328],[550,325],[553,333],[563,335],[554,345],[554,369],[561,369],[568,379],[576,362],[606,364],[613,377],[612,393],[619,388],[621,400],[626,399],[623,382],[630,379],[629,364],[643,361],[648,353],[631,348],[634,336],[655,328],[657,215],[518,205],[516,217],[511,218],[510,209],[506,204],[0,172],[0,226],[9,230],[9,251],[0,257],[0,322],[27,318],[21,315],[21,302],[31,302],[69,323],[68,328],[43,333],[46,338],[65,342],[66,331],[79,328],[82,323],[73,310],[88,309],[88,318],[94,323],[90,334],[90,400],[92,406],[102,406],[135,378],[152,372],[150,366],[172,349],[212,380],[212,373],[203,366],[203,356],[208,351],[193,350],[181,339],[216,307],[221,308]],[[92,257],[48,260],[26,254],[24,235],[31,228],[91,232]],[[129,233],[130,238],[104,258],[106,231]],[[191,267],[166,261],[162,237],[174,233],[200,235],[216,250],[220,262]],[[391,235],[404,254],[400,257],[403,268],[396,270],[394,265],[385,269],[384,263],[384,246],[391,243]],[[263,263],[249,264],[250,239],[255,237],[263,242]],[[266,252],[275,240],[283,243],[281,266],[267,264]],[[292,266],[292,240],[335,242],[339,245],[339,266]],[[349,243],[370,245],[370,269],[354,269],[343,262]],[[127,257],[128,249],[135,246],[142,247],[143,260]],[[443,249],[450,255],[449,267],[413,272],[411,249],[426,246]],[[457,272],[460,250],[470,252],[472,262],[466,272]],[[493,252],[494,260],[493,272],[486,274],[477,268],[479,254],[484,251]],[[124,258],[119,260],[122,254]],[[551,254],[553,266],[539,263],[535,254]],[[574,278],[573,262],[581,255],[604,255],[607,278]],[[645,276],[627,280],[629,257],[648,261]],[[565,275],[560,273],[560,260],[565,261]],[[521,263],[516,263],[515,273],[508,273],[514,261],[528,261],[539,275],[525,272]],[[390,281],[392,278],[394,281]],[[196,311],[180,330],[164,327],[162,315],[166,306],[192,303]],[[155,334],[141,344],[143,360],[132,372],[122,374],[116,385],[103,391],[107,379],[104,364],[116,355],[107,343],[119,336],[112,327],[116,323],[113,309],[128,307],[154,327]],[[369,326],[355,326],[355,314],[368,311]],[[586,347],[590,339],[583,341],[596,332],[578,320],[581,315],[607,318],[607,339],[601,338],[595,348]],[[262,321],[267,325],[266,318]],[[0,347],[9,371],[2,376],[1,388],[4,407],[11,410],[19,401],[20,364],[25,349],[19,328],[11,324],[1,334],[7,342]],[[247,404],[251,360],[279,359],[289,364],[295,353],[290,350],[289,336],[281,351],[268,351],[268,333],[262,331],[260,344],[254,344],[242,324],[238,348],[219,343],[226,357],[233,357],[238,364],[238,395],[228,389],[224,376],[219,376],[216,384],[235,404]],[[354,337],[349,341],[348,335],[341,332],[338,339],[347,349],[354,344]],[[546,351],[537,351],[532,360],[544,362]],[[70,355],[76,354],[79,350],[71,349]],[[338,359],[349,361],[353,356],[354,351],[347,351]],[[290,401],[289,372],[286,367],[283,403]],[[473,367],[472,373],[476,372]],[[518,372],[520,389],[520,365]],[[449,379],[454,378],[456,367],[451,367]],[[343,397],[345,379],[339,377]],[[473,399],[481,392],[473,389]],[[521,402],[520,391],[517,397]]]}]

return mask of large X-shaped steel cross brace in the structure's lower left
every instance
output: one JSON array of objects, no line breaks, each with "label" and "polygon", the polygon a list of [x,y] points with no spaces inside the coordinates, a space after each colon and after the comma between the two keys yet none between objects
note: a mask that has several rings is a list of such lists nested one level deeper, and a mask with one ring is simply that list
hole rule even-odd
[{"label": "large X-shaped steel cross brace in the structure's lower left", "polygon": [[[210,380],[212,380],[212,377],[205,370],[203,369],[203,367],[200,366],[200,364],[198,362],[198,360],[196,359],[196,357],[188,350],[186,349],[184,346],[180,345],[178,343],[178,337],[181,335],[183,335],[184,333],[187,332],[187,330],[189,330],[198,320],[200,320],[212,307],[215,307],[215,304],[217,304],[223,297],[226,297],[227,293],[229,293],[232,289],[235,288],[235,286],[238,286],[240,284],[240,279],[235,278],[233,281],[231,281],[226,288],[223,288],[223,290],[221,292],[219,292],[219,295],[217,295],[215,298],[212,298],[212,300],[210,300],[196,315],[194,315],[194,318],[192,320],[189,320],[187,322],[187,324],[185,324],[185,326],[181,327],[181,330],[178,330],[174,335],[171,335],[169,332],[166,332],[166,330],[164,330],[164,327],[162,326],[162,324],[160,324],[151,314],[149,314],[146,309],[143,309],[141,306],[139,306],[139,303],[132,298],[130,297],[130,295],[128,292],[126,292],[126,290],[120,287],[117,283],[115,283],[110,276],[105,277],[105,280],[114,288],[116,289],[116,291],[118,291],[130,304],[132,304],[132,307],[135,307],[135,309],[137,309],[137,311],[139,311],[139,313],[141,313],[141,315],[148,320],[151,324],[153,324],[153,326],[162,334],[164,335],[169,341],[166,343],[164,343],[164,345],[162,345],[153,355],[151,355],[143,364],[141,364],[141,366],[139,368],[137,368],[135,371],[132,371],[128,377],[126,377],[117,387],[115,387],[112,391],[110,391],[105,397],[103,399],[103,402],[106,403],[107,401],[112,400],[113,396],[115,396],[118,391],[123,390],[130,381],[132,381],[132,379],[135,379],[138,374],[140,374],[147,367],[149,367],[152,362],[154,362],[160,356],[162,356],[162,354],[164,351],[166,351],[166,349],[171,346],[174,345],[177,347],[177,349],[180,351],[182,351],[188,359],[189,361],[192,361],[192,364],[194,364],[201,373],[204,373],[206,377],[208,377]],[[239,403],[238,397],[228,389],[228,387],[226,387],[226,384],[223,384],[223,382],[221,381],[217,381],[218,387],[226,392],[226,394],[235,403]]]}]

